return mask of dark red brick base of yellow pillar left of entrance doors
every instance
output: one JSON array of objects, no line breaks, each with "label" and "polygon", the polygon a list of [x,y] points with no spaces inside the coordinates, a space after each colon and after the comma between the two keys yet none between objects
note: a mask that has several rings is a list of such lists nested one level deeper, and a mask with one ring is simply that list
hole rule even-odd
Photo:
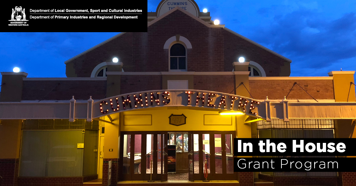
[{"label": "dark red brick base of yellow pillar left of entrance doors", "polygon": [[116,183],[118,181],[118,174],[117,174],[117,158],[112,158],[112,159],[103,159],[103,180],[102,184],[103,186],[108,185],[108,179],[109,179],[109,161],[111,160],[111,185],[116,186]]}]

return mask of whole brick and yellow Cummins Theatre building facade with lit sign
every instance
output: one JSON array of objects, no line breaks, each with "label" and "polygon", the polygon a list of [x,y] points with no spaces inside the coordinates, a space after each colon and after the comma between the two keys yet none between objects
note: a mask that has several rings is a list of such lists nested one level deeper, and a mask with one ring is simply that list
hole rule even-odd
[{"label": "whole brick and yellow Cummins Theatre building facade with lit sign", "polygon": [[355,138],[355,71],[289,77],[291,60],[193,0],[147,14],[147,33],[74,56],[67,78],[1,72],[1,186],[355,185],[356,172],[233,169],[234,138]]}]

